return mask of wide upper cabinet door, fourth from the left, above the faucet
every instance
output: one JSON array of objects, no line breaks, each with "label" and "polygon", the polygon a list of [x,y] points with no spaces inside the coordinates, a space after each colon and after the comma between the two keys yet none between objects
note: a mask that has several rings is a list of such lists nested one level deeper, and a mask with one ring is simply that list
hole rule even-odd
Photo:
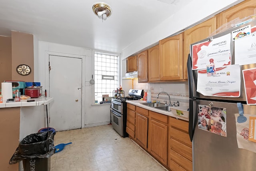
[{"label": "wide upper cabinet door, fourth from the left, above the faucet", "polygon": [[160,80],[182,80],[182,34],[159,41]]}]

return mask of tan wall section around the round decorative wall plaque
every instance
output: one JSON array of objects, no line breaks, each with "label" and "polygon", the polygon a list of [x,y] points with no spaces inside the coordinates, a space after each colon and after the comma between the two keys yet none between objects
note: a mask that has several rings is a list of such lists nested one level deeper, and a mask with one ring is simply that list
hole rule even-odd
[{"label": "tan wall section around the round decorative wall plaque", "polygon": [[[27,76],[18,74],[16,68],[20,64],[30,66],[31,74]],[[34,82],[33,34],[12,31],[12,80]]]}]

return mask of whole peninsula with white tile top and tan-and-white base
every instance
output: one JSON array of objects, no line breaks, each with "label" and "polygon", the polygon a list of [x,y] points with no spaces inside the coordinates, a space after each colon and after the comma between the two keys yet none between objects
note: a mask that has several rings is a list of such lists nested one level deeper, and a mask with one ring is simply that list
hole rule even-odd
[{"label": "whole peninsula with white tile top and tan-and-white base", "polygon": [[19,102],[0,103],[0,168],[4,171],[19,170],[19,164],[9,165],[9,160],[20,141],[27,135],[47,127],[46,106],[54,101],[53,97],[32,99],[35,101],[27,102],[24,99]]}]

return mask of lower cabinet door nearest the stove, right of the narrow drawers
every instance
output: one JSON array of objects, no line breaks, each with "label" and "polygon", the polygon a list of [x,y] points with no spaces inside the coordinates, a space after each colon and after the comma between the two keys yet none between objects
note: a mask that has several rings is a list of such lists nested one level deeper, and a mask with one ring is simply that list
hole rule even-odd
[{"label": "lower cabinet door nearest the stove, right of the narrow drawers", "polygon": [[136,113],[136,142],[144,149],[148,143],[148,118]]}]

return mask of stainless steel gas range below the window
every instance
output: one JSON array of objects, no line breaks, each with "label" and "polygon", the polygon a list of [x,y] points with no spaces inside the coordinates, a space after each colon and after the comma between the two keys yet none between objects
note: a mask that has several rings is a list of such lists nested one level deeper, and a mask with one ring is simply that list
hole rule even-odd
[{"label": "stainless steel gas range below the window", "polygon": [[144,95],[143,89],[129,89],[129,96],[117,96],[111,100],[111,122],[113,128],[122,136],[128,137],[126,133],[127,103],[126,100],[139,100]]}]

